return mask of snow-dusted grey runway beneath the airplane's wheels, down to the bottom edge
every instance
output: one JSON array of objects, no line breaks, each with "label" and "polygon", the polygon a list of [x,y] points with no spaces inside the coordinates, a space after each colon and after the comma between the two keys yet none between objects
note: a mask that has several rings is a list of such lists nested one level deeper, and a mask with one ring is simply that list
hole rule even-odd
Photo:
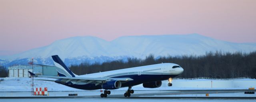
[{"label": "snow-dusted grey runway beneath the airplane's wheels, down to the bottom edge", "polygon": [[[123,96],[125,90],[112,90],[107,98],[100,98],[101,92],[96,90],[49,92],[49,96],[31,96],[30,92],[0,92],[0,102],[255,102],[256,95],[244,94],[247,91],[255,90],[136,90],[131,97]],[[74,93],[78,96],[68,96]],[[205,96],[206,93],[210,95]],[[27,96],[22,96],[24,94]]]}]

